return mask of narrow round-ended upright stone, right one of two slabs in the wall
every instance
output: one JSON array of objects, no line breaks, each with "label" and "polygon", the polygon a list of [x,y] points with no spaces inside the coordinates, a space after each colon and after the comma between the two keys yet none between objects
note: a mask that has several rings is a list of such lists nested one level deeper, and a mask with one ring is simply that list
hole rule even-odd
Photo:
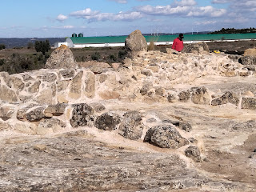
[{"label": "narrow round-ended upright stone, right one of two slabs in the wall", "polygon": [[87,98],[94,98],[95,95],[95,74],[86,72],[85,74],[85,94]]}]

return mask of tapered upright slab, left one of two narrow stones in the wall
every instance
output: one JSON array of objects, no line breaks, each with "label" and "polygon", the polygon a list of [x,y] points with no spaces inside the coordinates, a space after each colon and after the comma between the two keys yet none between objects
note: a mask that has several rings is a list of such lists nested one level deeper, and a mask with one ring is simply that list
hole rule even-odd
[{"label": "tapered upright slab, left one of two narrow stones in the wall", "polygon": [[80,98],[81,97],[81,89],[82,89],[82,74],[80,71],[72,80],[70,85],[70,98]]}]

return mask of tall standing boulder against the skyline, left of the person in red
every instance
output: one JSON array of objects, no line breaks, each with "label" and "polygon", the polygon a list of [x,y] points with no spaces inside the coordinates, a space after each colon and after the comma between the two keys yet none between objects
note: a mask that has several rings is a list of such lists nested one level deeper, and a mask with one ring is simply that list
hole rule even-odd
[{"label": "tall standing boulder against the skyline, left of the person in red", "polygon": [[128,58],[134,58],[139,51],[147,51],[146,38],[140,30],[135,30],[126,38],[126,52]]}]

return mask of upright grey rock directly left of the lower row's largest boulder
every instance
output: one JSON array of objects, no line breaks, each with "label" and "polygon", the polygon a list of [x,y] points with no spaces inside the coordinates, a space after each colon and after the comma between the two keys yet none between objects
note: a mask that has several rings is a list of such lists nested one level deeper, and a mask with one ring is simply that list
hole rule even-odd
[{"label": "upright grey rock directly left of the lower row's largest boulder", "polygon": [[138,140],[142,137],[142,131],[142,115],[135,110],[126,112],[119,126],[118,134],[124,138]]}]

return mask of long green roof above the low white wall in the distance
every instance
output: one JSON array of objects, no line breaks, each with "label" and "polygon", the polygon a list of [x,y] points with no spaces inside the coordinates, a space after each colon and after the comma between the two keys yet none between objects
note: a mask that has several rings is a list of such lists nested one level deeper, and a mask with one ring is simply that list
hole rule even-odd
[{"label": "long green roof above the low white wall in the distance", "polygon": [[[146,42],[173,42],[178,35],[145,36]],[[127,36],[110,37],[76,37],[71,38],[74,43],[114,43],[125,42]],[[256,39],[256,34],[185,34],[183,41],[211,41]]]}]

